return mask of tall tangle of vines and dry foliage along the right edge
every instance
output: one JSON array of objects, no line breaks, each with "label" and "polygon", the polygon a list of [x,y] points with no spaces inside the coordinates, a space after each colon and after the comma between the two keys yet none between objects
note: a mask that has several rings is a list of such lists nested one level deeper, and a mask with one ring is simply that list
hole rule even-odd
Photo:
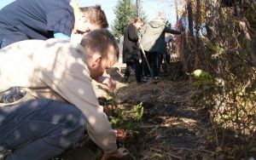
[{"label": "tall tangle of vines and dry foliage along the right edge", "polygon": [[[203,86],[204,79],[193,78],[201,89],[195,104],[208,109],[215,126],[209,140],[219,155],[247,157],[256,143],[256,2],[189,0],[183,5],[180,13],[190,23],[182,36],[183,71],[200,69],[214,79],[214,85]],[[202,30],[207,34],[201,36]]]}]

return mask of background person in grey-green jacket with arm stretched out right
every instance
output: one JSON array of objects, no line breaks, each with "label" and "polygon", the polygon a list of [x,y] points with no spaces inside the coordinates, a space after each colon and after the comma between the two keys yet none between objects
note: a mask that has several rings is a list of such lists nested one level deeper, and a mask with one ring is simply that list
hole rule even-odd
[{"label": "background person in grey-green jacket with arm stretched out right", "polygon": [[[141,31],[141,44],[143,45],[148,62],[152,67],[154,79],[159,79],[160,56],[166,50],[165,32],[180,34],[180,31],[166,27],[166,18],[162,12],[158,13],[154,20],[143,26]],[[150,75],[148,66],[143,66],[145,75]]]}]

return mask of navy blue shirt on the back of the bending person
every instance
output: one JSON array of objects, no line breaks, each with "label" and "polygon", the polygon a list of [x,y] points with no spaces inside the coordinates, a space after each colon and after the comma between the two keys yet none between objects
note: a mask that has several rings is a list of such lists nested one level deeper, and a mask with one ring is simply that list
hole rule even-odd
[{"label": "navy blue shirt on the back of the bending person", "polygon": [[16,0],[0,10],[0,45],[45,40],[54,37],[54,31],[70,36],[73,26],[70,0]]}]

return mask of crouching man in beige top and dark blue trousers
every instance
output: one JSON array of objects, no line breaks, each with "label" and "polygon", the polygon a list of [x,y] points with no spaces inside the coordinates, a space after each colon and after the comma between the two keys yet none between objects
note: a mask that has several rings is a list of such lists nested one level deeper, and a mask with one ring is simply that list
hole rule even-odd
[{"label": "crouching man in beige top and dark blue trousers", "polygon": [[11,150],[6,159],[49,159],[84,130],[104,151],[102,159],[124,156],[91,83],[118,60],[117,43],[109,31],[96,30],[80,44],[26,40],[1,50],[0,151]]}]

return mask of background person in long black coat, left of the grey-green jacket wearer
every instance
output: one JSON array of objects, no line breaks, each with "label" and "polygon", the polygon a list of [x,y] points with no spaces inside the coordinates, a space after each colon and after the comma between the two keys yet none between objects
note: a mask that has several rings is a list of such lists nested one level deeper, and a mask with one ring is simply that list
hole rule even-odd
[{"label": "background person in long black coat, left of the grey-green jacket wearer", "polygon": [[124,44],[123,44],[123,60],[126,64],[124,81],[128,82],[131,75],[131,70],[135,70],[137,83],[142,83],[142,66],[140,64],[140,50],[137,44],[138,29],[143,26],[143,19],[137,18],[132,21],[125,29]]}]

